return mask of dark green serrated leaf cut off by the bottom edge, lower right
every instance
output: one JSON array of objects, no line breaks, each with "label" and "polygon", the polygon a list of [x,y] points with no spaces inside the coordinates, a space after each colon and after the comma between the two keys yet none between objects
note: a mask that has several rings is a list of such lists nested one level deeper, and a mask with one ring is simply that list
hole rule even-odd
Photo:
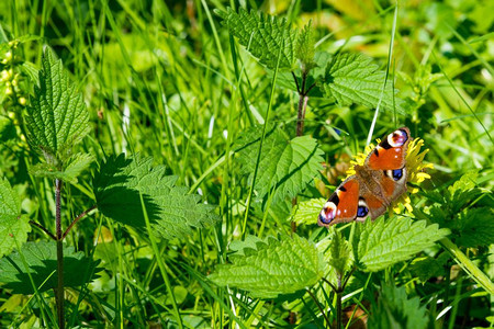
[{"label": "dark green serrated leaf cut off by the bottom edge, lower right", "polygon": [[408,298],[404,286],[384,285],[378,298],[378,306],[372,310],[369,329],[425,329],[429,321],[426,306],[420,306],[418,297]]}]

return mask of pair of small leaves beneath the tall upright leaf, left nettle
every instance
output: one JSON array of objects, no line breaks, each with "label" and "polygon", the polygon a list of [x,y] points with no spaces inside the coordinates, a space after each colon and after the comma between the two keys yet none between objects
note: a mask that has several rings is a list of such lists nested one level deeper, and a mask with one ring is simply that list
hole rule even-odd
[{"label": "pair of small leaves beneath the tall upright leaf, left nettle", "polygon": [[68,164],[63,171],[57,170],[55,166],[50,166],[49,163],[37,163],[30,168],[30,173],[36,177],[60,179],[76,184],[77,178],[82,171],[89,168],[92,161],[94,161],[94,158],[91,155],[77,154],[68,159]]}]

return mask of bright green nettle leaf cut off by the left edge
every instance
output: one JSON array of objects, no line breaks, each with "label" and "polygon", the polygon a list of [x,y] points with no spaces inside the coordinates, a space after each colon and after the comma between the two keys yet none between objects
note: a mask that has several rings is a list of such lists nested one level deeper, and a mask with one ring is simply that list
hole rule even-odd
[{"label": "bright green nettle leaf cut off by the left edge", "polygon": [[0,179],[0,257],[27,240],[30,218],[21,215],[21,201],[7,179]]}]

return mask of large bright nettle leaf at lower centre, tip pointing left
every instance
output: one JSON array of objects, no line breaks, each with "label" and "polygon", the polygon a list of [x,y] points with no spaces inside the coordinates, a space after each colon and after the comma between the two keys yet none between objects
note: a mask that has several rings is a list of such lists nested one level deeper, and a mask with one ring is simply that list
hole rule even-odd
[{"label": "large bright nettle leaf at lower centre, tip pointing left", "polygon": [[[218,265],[209,277],[220,286],[234,286],[255,297],[274,298],[316,284],[324,275],[323,256],[305,238],[268,237],[247,242],[243,256],[231,257],[232,264]],[[239,247],[239,246],[237,246]]]}]

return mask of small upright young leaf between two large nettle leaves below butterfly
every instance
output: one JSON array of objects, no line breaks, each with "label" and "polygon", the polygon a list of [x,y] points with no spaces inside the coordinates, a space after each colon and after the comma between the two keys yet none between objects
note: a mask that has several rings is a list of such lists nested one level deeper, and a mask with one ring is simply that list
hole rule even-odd
[{"label": "small upright young leaf between two large nettle leaves below butterfly", "polygon": [[325,259],[343,276],[353,264],[353,252],[350,243],[344,239],[339,230],[334,227],[332,230],[332,242]]}]

